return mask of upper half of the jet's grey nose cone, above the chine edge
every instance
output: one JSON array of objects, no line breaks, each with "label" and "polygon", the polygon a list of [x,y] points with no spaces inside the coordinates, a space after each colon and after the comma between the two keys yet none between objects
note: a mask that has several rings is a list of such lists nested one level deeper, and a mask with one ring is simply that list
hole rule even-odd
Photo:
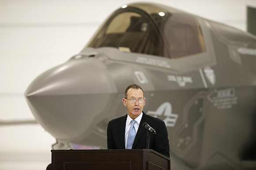
[{"label": "upper half of the jet's grey nose cone, above the chine edge", "polygon": [[103,64],[70,61],[41,74],[31,83],[25,95],[29,98],[109,92],[112,87],[106,82],[109,78]]}]

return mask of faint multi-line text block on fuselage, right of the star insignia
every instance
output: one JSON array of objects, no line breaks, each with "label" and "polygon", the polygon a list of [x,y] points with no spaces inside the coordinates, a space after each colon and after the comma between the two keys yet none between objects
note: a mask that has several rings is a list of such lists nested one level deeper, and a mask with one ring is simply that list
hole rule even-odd
[{"label": "faint multi-line text block on fuselage, right of the star insignia", "polygon": [[237,104],[237,96],[235,96],[234,88],[222,90],[215,89],[209,96],[207,96],[207,98],[218,109],[229,109]]}]

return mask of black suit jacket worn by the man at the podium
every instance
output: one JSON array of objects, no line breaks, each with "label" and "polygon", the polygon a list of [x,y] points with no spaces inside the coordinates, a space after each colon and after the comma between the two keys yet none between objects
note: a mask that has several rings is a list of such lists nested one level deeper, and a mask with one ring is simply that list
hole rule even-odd
[{"label": "black suit jacket worn by the man at the podium", "polygon": [[[115,118],[109,121],[107,128],[107,142],[108,149],[125,149],[125,124],[127,115]],[[150,115],[146,115],[143,112],[141,121],[139,123],[139,129],[136,133],[132,149],[146,149],[146,135],[147,131],[143,127],[143,123],[147,122],[157,134],[151,133],[150,149],[170,157],[169,154],[169,140],[165,123],[159,118],[154,118]]]}]

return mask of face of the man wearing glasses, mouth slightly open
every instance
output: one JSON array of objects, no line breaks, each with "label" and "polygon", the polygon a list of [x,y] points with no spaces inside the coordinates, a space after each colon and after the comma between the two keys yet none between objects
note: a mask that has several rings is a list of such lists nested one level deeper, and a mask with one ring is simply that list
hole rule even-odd
[{"label": "face of the man wearing glasses, mouth slightly open", "polygon": [[[128,89],[127,99],[123,98],[122,101],[124,103],[124,106],[127,107],[128,115],[132,119],[135,119],[143,111],[143,107],[145,106],[145,103],[146,103],[146,98],[144,98],[143,92],[141,89],[132,89],[131,88],[131,89]],[[142,102],[142,103],[140,103],[140,102]]]}]

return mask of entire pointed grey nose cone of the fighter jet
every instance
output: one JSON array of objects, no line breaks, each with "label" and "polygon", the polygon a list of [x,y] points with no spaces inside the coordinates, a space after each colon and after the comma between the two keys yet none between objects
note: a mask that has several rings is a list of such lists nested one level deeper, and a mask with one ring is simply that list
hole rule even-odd
[{"label": "entire pointed grey nose cone of the fighter jet", "polygon": [[84,135],[111,102],[116,87],[105,66],[95,61],[69,61],[36,78],[26,90],[36,120],[54,137]]}]

